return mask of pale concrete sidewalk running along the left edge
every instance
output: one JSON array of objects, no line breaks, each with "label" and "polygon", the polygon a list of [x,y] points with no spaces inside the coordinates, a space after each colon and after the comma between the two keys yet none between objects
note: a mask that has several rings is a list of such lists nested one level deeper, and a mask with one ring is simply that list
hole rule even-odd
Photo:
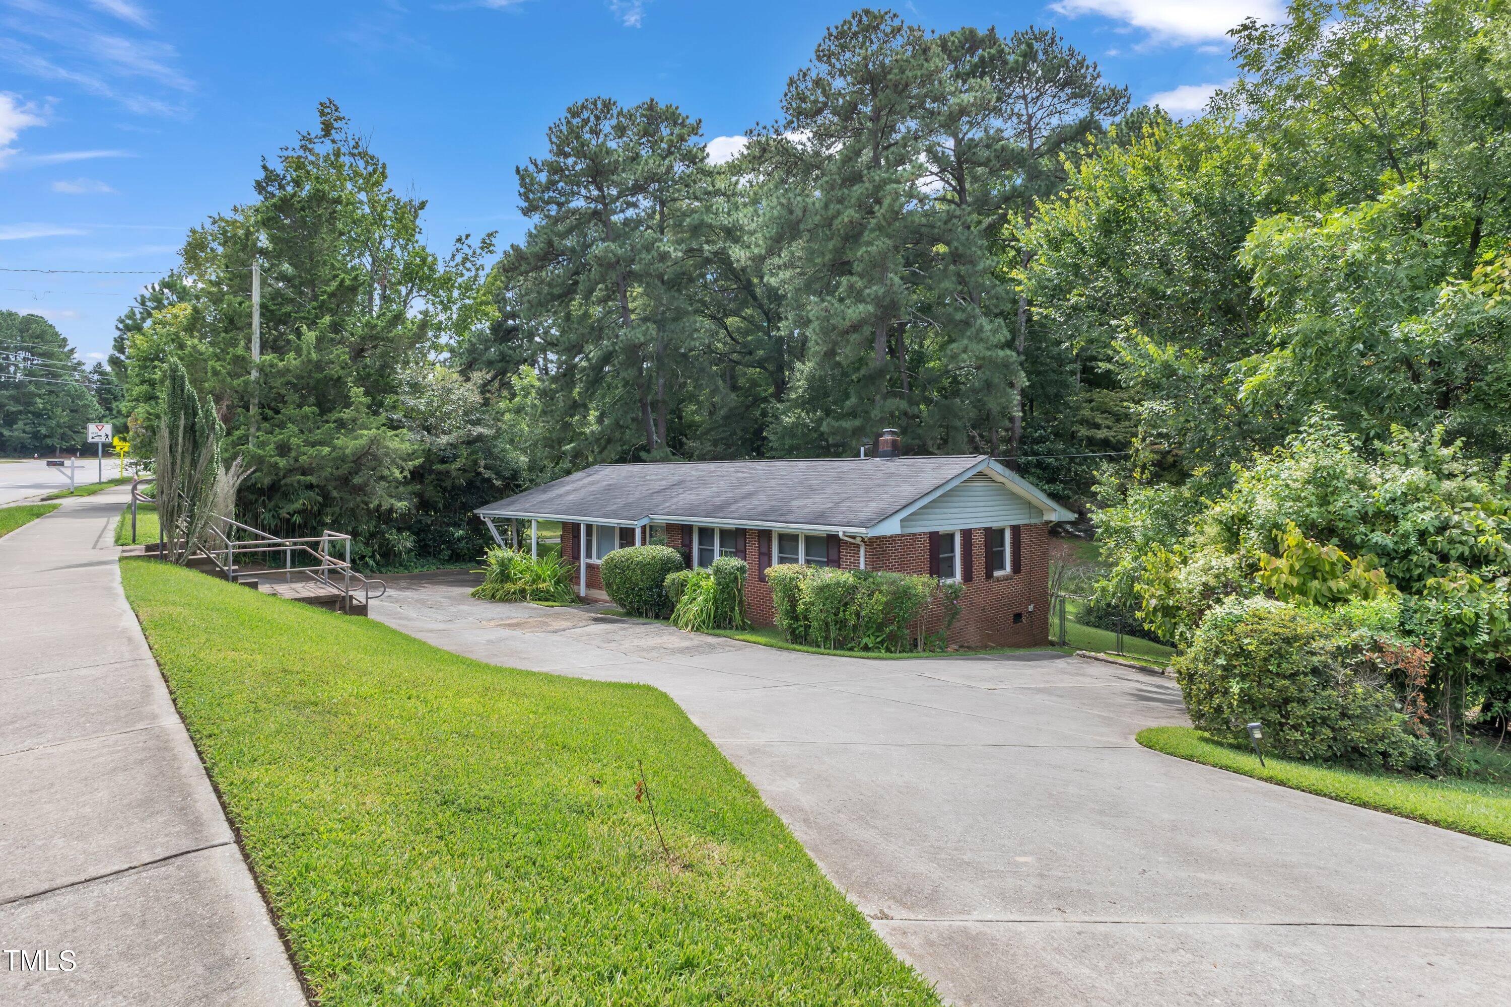
[{"label": "pale concrete sidewalk running along the left edge", "polygon": [[124,501],[0,537],[0,1002],[304,1004],[121,590]]}]

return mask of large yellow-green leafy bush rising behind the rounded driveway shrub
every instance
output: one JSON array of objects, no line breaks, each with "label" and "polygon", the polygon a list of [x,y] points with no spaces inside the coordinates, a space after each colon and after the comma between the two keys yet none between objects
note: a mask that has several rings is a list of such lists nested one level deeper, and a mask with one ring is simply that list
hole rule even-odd
[{"label": "large yellow-green leafy bush rising behind the rounded driveway shrub", "polygon": [[1263,592],[1327,608],[1390,596],[1392,631],[1431,655],[1434,731],[1466,711],[1499,731],[1511,713],[1511,486],[1441,433],[1366,448],[1334,420],[1238,468],[1212,498],[1130,489],[1100,515],[1126,584],[1160,636],[1191,643],[1228,598]]}]

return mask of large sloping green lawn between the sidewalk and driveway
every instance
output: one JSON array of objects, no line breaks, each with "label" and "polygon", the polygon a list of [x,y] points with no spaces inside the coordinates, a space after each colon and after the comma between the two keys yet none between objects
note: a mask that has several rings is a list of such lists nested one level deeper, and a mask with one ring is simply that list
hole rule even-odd
[{"label": "large sloping green lawn between the sidewalk and driveway", "polygon": [[938,1002],[665,693],[121,574],[325,1007]]}]

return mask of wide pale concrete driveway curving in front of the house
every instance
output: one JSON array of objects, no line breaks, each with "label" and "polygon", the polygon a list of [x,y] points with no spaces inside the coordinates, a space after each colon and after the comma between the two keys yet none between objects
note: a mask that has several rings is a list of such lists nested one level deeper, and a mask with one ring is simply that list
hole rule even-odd
[{"label": "wide pale concrete driveway curving in front of the house", "polygon": [[669,693],[955,1004],[1511,1002],[1511,847],[1139,747],[1159,676],[1058,654],[872,661],[390,580],[484,661]]}]

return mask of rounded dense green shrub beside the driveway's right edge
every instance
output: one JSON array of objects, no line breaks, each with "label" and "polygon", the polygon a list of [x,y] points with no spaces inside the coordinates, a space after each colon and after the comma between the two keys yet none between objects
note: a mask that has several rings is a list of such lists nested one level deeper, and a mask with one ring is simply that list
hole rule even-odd
[{"label": "rounded dense green shrub beside the driveway's right edge", "polygon": [[1213,738],[1247,744],[1257,720],[1286,758],[1431,768],[1435,746],[1398,713],[1377,642],[1346,614],[1247,598],[1209,613],[1171,667],[1192,725]]}]

